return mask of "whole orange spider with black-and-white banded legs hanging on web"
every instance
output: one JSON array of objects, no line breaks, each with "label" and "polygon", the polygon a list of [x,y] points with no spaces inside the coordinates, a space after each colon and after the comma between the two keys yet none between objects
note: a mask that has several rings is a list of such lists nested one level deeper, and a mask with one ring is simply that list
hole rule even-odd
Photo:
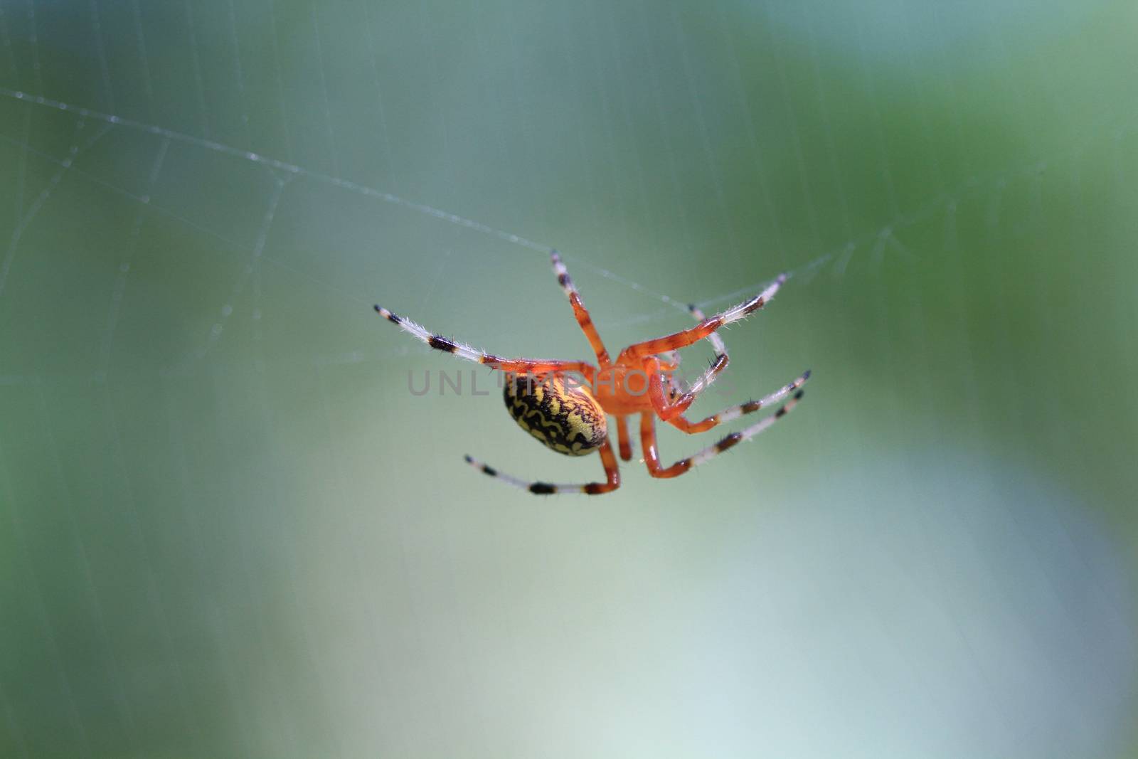
[{"label": "whole orange spider with black-and-white banded legs hanging on web", "polygon": [[[505,382],[505,404],[510,415],[518,424],[546,447],[558,453],[580,456],[600,451],[605,481],[584,485],[529,482],[501,472],[469,455],[465,456],[467,463],[484,473],[538,495],[553,493],[599,495],[616,490],[620,487],[620,471],[617,467],[617,459],[612,455],[605,414],[612,414],[616,418],[620,457],[629,461],[633,452],[628,437],[628,416],[638,413],[641,445],[649,473],[652,477],[677,477],[734,445],[765,431],[789,413],[802,397],[800,388],[809,379],[809,371],[759,401],[748,401],[724,409],[698,422],[690,421],[684,416],[687,407],[727,366],[727,349],[716,330],[732,322],[737,322],[751,312],[765,306],[786,281],[785,274],[780,275],[769,287],[750,300],[716,314],[711,319],[706,317],[695,306],[688,306],[692,316],[699,321],[695,327],[654,340],[635,343],[621,350],[617,355],[617,360],[612,361],[601,341],[601,336],[597,333],[593,320],[582,304],[580,294],[574,287],[569,272],[561,262],[561,256],[558,255],[556,250],[553,250],[551,257],[553,272],[558,275],[561,289],[569,297],[569,305],[572,306],[577,323],[596,354],[599,366],[593,366],[584,361],[502,358],[476,350],[469,345],[434,335],[411,320],[397,316],[381,306],[376,306],[376,311],[381,316],[398,324],[404,331],[436,350],[486,364],[510,374]],[[694,382],[682,387],[673,376],[679,365],[679,354],[676,352],[704,338],[715,348],[715,360]],[[570,381],[570,377],[574,376],[583,378],[584,381]],[[642,380],[638,387],[634,387],[630,380],[637,376]],[[657,419],[668,422],[688,435],[694,435],[737,419],[743,414],[753,413],[787,396],[791,396],[790,401],[762,421],[739,432],[732,432],[715,445],[693,456],[681,459],[670,467],[660,464],[660,456],[655,447]]]}]

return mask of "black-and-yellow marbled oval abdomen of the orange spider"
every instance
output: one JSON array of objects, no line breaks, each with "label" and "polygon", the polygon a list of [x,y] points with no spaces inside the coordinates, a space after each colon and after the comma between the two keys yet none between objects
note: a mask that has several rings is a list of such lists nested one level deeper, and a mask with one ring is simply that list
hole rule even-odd
[{"label": "black-and-yellow marbled oval abdomen of the orange spider", "polygon": [[508,376],[504,398],[518,426],[558,453],[583,456],[608,435],[604,410],[588,388],[559,374]]}]

